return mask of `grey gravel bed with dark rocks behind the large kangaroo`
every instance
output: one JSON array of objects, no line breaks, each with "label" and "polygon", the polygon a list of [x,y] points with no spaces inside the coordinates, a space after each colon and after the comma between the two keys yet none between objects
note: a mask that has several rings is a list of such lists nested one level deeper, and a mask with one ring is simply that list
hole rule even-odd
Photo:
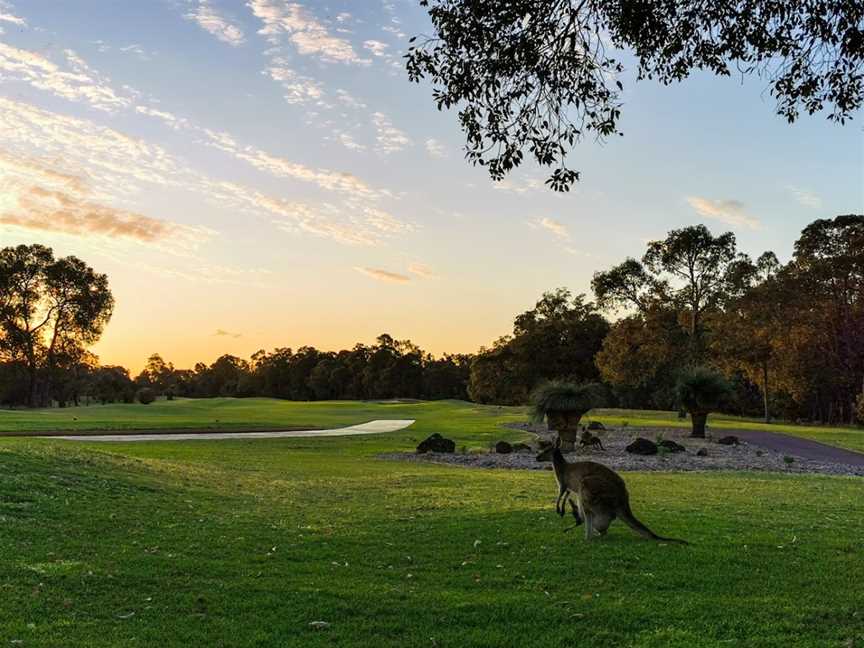
[{"label": "grey gravel bed with dark rocks behind the large kangaroo", "polygon": [[[530,430],[537,434],[538,440],[540,438],[553,438],[545,429],[545,426],[538,428],[537,426],[529,426],[527,424],[516,424],[509,427]],[[631,426],[608,429],[596,433],[606,448],[605,452],[594,448],[578,448],[576,452],[568,454],[567,459],[568,461],[596,461],[614,470],[621,471],[688,472],[704,470],[753,470],[781,473],[864,476],[864,467],[861,466],[823,463],[794,456],[792,457],[792,461],[789,462],[786,455],[743,441],[738,446],[726,446],[716,443],[716,440],[712,440],[711,438],[704,440],[691,439],[687,436],[688,433],[688,430],[681,428],[639,428]],[[723,431],[720,436],[726,436],[727,434],[732,433]],[[671,439],[680,443],[687,448],[687,451],[642,456],[630,454],[624,449],[636,437],[644,437],[651,441],[656,441],[658,435],[661,435],[660,438]],[[533,448],[536,448],[536,443],[532,443],[531,445]],[[696,456],[696,453],[702,448],[705,449],[708,456]],[[552,470],[551,463],[538,462],[535,459],[535,455],[536,450],[511,454],[497,454],[494,451],[466,454],[416,454],[402,452],[385,454],[381,455],[381,457],[401,461],[454,464],[470,468]]]}]

